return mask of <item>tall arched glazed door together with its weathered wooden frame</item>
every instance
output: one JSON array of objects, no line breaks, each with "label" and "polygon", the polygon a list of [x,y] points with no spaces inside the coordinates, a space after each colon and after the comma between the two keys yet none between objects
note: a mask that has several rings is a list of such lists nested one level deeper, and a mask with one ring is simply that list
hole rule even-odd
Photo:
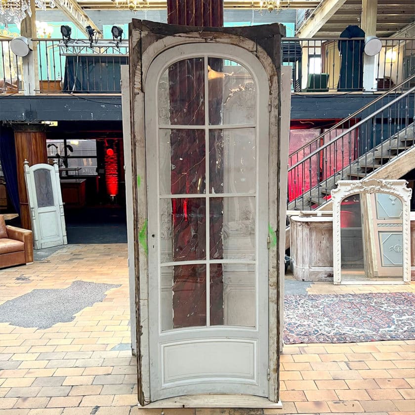
[{"label": "tall arched glazed door together with its weathered wooden frame", "polygon": [[129,30],[123,116],[139,403],[281,407],[284,27],[133,19]]}]

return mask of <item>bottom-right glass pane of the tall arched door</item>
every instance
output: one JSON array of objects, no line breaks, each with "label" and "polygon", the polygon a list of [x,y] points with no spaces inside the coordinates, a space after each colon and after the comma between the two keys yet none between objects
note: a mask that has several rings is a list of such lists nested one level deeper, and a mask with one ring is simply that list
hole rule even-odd
[{"label": "bottom-right glass pane of the tall arched door", "polygon": [[255,327],[255,266],[210,264],[210,325]]}]

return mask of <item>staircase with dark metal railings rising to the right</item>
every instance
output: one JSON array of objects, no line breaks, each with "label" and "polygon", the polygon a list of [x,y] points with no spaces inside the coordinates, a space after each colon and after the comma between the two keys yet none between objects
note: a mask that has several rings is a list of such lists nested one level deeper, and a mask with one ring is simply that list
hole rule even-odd
[{"label": "staircase with dark metal railings rising to the right", "polygon": [[400,178],[415,168],[415,75],[289,156],[289,210],[317,209],[338,180]]}]

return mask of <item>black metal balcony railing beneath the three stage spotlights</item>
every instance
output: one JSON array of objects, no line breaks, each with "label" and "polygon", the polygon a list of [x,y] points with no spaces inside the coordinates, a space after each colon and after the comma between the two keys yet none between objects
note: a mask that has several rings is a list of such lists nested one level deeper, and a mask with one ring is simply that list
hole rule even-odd
[{"label": "black metal balcony railing beneath the three stage spotlights", "polygon": [[[121,65],[128,64],[128,43],[99,40],[62,42],[34,39],[41,93],[121,93]],[[24,89],[22,58],[13,54],[10,40],[0,41],[0,92]]]}]

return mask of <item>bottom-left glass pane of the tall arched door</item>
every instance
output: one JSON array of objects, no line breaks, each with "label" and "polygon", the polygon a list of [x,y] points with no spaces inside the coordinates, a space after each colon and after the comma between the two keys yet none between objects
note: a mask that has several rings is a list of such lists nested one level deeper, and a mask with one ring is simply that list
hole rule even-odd
[{"label": "bottom-left glass pane of the tall arched door", "polygon": [[161,267],[162,331],[206,326],[206,265]]}]

